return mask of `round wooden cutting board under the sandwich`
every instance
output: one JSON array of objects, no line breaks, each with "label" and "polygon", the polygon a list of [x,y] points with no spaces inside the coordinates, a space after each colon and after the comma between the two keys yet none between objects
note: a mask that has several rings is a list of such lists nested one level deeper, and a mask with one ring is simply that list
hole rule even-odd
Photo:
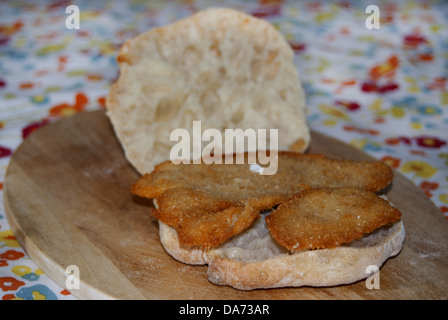
[{"label": "round wooden cutting board under the sandwich", "polygon": [[[315,132],[310,152],[371,159]],[[388,196],[403,214],[406,239],[381,268],[380,289],[372,290],[365,281],[247,292],[213,285],[206,266],[182,264],[164,251],[151,203],[129,191],[138,178],[105,112],[81,113],[37,130],[16,150],[5,177],[8,221],[29,256],[62,287],[67,267],[78,267],[80,286],[70,291],[81,299],[448,297],[448,222],[398,173]]]}]

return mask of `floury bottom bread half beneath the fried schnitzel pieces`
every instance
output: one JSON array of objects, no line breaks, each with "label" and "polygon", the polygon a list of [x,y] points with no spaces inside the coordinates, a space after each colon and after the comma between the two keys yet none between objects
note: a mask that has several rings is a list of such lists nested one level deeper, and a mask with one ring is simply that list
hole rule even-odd
[{"label": "floury bottom bread half beneath the fried schnitzel pieces", "polygon": [[285,252],[261,261],[239,261],[226,257],[220,248],[182,248],[176,241],[176,231],[161,222],[159,225],[162,245],[173,258],[187,264],[208,264],[210,282],[239,290],[354,283],[370,275],[368,266],[380,268],[388,258],[397,255],[405,238],[400,220],[349,245]]}]

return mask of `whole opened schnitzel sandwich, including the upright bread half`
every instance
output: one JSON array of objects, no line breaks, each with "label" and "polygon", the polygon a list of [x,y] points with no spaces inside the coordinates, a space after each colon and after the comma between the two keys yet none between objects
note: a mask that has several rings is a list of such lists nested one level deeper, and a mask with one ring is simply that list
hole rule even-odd
[{"label": "whole opened schnitzel sandwich, including the upright bread half", "polygon": [[[385,194],[392,170],[304,153],[294,54],[267,21],[207,9],[128,40],[117,61],[107,115],[141,175],[131,192],[153,199],[148,214],[174,259],[208,265],[216,285],[252,290],[352,283],[400,252],[401,213]],[[173,130],[194,135],[194,121],[219,132],[278,130],[265,144],[277,171],[260,174],[265,163],[247,149],[230,154],[240,164],[173,159]]]}]

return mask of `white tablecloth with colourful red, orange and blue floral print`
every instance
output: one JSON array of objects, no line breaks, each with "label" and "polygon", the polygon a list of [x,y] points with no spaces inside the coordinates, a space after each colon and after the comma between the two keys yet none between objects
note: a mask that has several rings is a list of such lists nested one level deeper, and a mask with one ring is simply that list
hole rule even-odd
[{"label": "white tablecloth with colourful red, orange and blue floral print", "polygon": [[[219,6],[267,19],[284,34],[295,52],[312,129],[389,164],[448,217],[448,2],[377,2],[379,21],[366,25],[375,18],[374,11],[366,13],[371,4],[0,1],[0,190],[11,155],[36,129],[104,107],[126,39]],[[67,19],[74,21],[69,5],[79,8],[79,29],[66,26]],[[379,29],[367,27],[373,21]],[[3,203],[0,297],[76,299],[20,247]]]}]

